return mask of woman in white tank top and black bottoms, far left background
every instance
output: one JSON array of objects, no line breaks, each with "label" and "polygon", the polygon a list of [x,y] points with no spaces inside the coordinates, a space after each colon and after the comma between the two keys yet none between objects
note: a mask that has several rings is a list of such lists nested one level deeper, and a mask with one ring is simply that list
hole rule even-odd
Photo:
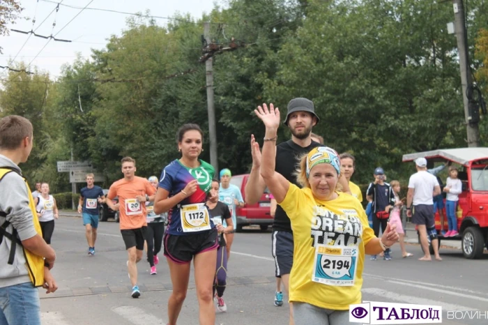
[{"label": "woman in white tank top and black bottoms, far left background", "polygon": [[54,219],[58,218],[58,207],[56,206],[56,199],[49,195],[49,184],[42,183],[40,185],[40,195],[36,199],[36,210],[38,213],[40,229],[43,232],[43,239],[51,244],[51,236],[54,232]]}]

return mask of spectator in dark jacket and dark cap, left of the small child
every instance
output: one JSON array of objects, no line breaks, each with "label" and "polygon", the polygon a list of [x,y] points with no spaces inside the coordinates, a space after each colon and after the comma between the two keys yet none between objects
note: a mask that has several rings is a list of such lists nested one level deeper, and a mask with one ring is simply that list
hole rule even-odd
[{"label": "spectator in dark jacket and dark cap, left of the small child", "polygon": [[[373,230],[376,237],[379,236],[379,228],[381,232],[386,231],[386,224],[390,216],[390,209],[395,206],[395,193],[393,192],[389,183],[386,183],[385,171],[381,167],[374,169],[374,182],[369,183],[366,190],[367,200],[372,202],[371,209],[373,213]],[[376,260],[376,255],[372,255],[371,259]],[[385,250],[383,259],[389,261],[390,249]]]}]

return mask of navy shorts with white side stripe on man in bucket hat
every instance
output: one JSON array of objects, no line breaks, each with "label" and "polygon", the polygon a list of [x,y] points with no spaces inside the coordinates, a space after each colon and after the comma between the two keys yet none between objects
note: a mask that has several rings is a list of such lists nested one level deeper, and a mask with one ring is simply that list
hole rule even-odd
[{"label": "navy shorts with white side stripe on man in bucket hat", "polygon": [[293,266],[293,234],[291,232],[273,232],[273,257],[275,258],[275,277],[290,274]]}]

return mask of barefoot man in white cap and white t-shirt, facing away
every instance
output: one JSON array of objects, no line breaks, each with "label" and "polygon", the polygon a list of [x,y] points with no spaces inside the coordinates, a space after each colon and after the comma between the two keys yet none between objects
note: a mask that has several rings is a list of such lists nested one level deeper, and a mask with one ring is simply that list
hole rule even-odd
[{"label": "barefoot man in white cap and white t-shirt, facing away", "polygon": [[432,261],[427,241],[427,236],[429,236],[436,260],[441,261],[439,239],[437,239],[434,221],[434,200],[432,199],[441,194],[441,187],[436,176],[427,172],[425,158],[417,158],[415,167],[417,167],[417,172],[410,176],[409,192],[406,195],[406,215],[412,217],[412,223],[418,226],[420,244],[424,250],[424,256],[419,260]]}]

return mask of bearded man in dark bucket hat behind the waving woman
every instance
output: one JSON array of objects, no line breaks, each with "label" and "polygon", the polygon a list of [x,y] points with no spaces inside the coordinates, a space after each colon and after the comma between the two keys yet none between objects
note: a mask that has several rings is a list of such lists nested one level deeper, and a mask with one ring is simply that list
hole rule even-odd
[{"label": "bearded man in dark bucket hat behind the waving woman", "polygon": [[[259,109],[268,110],[268,105],[263,104]],[[270,109],[274,110],[274,105],[270,104]],[[275,171],[282,174],[289,182],[300,186],[296,179],[296,165],[298,158],[304,153],[321,146],[318,142],[311,139],[313,126],[319,123],[319,116],[315,113],[314,103],[307,98],[293,98],[288,103],[287,116],[284,125],[291,131],[291,139],[276,146],[276,167]],[[265,142],[277,142],[277,137],[264,138]],[[252,146],[252,169],[245,186],[245,202],[254,204],[258,202],[263,194],[266,184],[259,174],[261,167],[261,152],[259,144],[251,135]],[[342,178],[344,191],[349,192],[349,185],[345,178]],[[293,265],[293,232],[287,213],[281,206],[277,206],[275,220],[273,222],[273,241],[272,252],[275,258],[275,276],[281,278],[284,288],[288,291],[288,280]],[[282,293],[276,292],[275,305],[280,305]],[[290,303],[290,324],[293,323],[293,309]]]}]

